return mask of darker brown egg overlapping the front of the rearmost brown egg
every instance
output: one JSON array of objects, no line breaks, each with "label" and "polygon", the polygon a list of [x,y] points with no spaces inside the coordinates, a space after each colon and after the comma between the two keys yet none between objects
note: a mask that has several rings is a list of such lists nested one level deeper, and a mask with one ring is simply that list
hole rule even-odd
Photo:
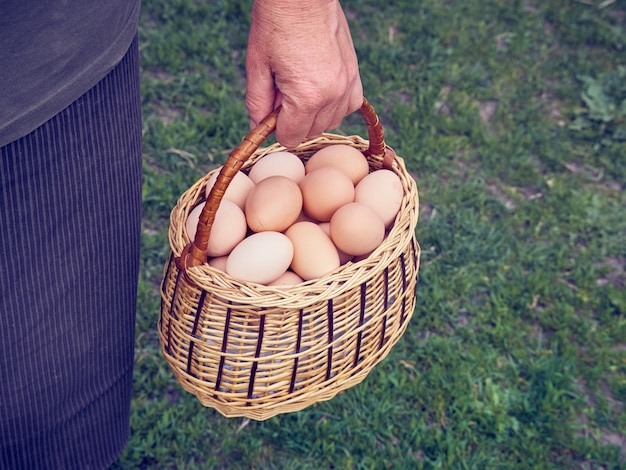
[{"label": "darker brown egg overlapping the front of the rearmost brown egg", "polygon": [[304,212],[327,222],[344,204],[354,200],[354,185],[341,170],[326,166],[306,174],[300,181]]}]

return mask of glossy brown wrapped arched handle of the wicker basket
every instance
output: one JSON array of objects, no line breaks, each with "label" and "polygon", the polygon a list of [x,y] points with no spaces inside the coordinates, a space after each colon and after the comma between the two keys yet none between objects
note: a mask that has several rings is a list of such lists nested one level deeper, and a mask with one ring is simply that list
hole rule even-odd
[{"label": "glossy brown wrapped arched handle of the wicker basket", "polygon": [[[265,139],[274,132],[279,111],[280,107],[268,114],[257,127],[244,137],[243,141],[228,156],[226,163],[217,176],[215,184],[209,192],[206,204],[202,209],[193,242],[185,246],[181,255],[176,258],[176,265],[181,271],[186,272],[189,267],[200,266],[206,263],[206,250],[209,244],[211,227],[213,226],[215,214],[226,192],[226,188],[246,160],[248,160]],[[363,98],[360,112],[365,120],[369,136],[369,147],[363,153],[365,156],[382,156],[383,168],[390,169],[396,157],[395,152],[385,145],[384,132],[378,115],[373,106],[365,98]]]}]

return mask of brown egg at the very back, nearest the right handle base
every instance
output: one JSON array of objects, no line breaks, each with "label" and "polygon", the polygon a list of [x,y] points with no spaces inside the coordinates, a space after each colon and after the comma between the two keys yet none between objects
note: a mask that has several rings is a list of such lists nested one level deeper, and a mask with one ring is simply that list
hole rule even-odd
[{"label": "brown egg at the very back, nearest the right handle base", "polygon": [[367,158],[355,147],[334,144],[315,152],[306,162],[307,173],[325,166],[333,166],[343,171],[352,184],[357,184],[369,173]]}]

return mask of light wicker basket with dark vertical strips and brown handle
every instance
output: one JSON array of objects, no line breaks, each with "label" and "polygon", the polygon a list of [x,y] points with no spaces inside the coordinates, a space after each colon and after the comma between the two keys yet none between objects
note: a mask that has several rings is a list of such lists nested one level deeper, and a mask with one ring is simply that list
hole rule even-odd
[{"label": "light wicker basket with dark vertical strips and brown handle", "polygon": [[400,213],[367,259],[290,288],[242,283],[205,262],[211,224],[234,174],[285,150],[278,144],[259,149],[274,131],[277,111],[230,154],[192,243],[185,220],[205,200],[211,173],[172,210],[158,322],[162,351],[181,386],[226,417],[264,420],[333,398],[387,356],[413,314],[420,259],[417,188],[403,160],[385,145],[367,100],[361,114],[369,141],[327,133],[293,153],[306,161],[324,146],[347,144],[364,153],[370,171],[384,167],[400,177]]}]

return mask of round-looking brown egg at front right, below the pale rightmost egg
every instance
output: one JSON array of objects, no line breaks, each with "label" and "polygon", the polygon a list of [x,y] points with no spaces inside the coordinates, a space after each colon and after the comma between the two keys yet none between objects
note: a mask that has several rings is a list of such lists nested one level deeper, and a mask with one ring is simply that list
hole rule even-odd
[{"label": "round-looking brown egg at front right, below the pale rightmost egg", "polygon": [[370,206],[352,202],[333,214],[330,237],[339,250],[360,256],[380,245],[385,238],[385,224]]}]

